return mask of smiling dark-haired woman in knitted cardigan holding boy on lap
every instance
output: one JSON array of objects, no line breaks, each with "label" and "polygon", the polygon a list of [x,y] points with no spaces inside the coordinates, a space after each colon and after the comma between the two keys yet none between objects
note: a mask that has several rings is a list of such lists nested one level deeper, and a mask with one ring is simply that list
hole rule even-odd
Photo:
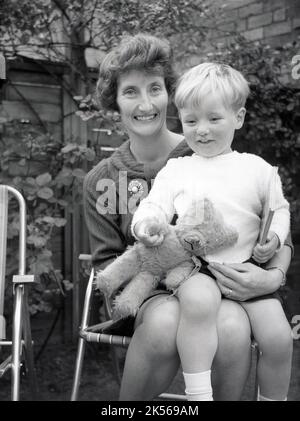
[{"label": "smiling dark-haired woman in knitted cardigan holding boy on lap", "polygon": [[[169,44],[150,35],[124,38],[103,60],[97,85],[103,108],[120,113],[128,134],[110,158],[85,178],[84,205],[93,263],[105,267],[133,244],[132,213],[151,180],[171,157],[191,154],[183,137],[168,130],[167,105],[176,75]],[[218,351],[213,363],[215,400],[238,400],[250,367],[250,325],[235,300],[277,290],[290,247],[264,270],[250,263],[217,265],[214,275],[224,296],[218,315]],[[158,291],[140,308],[128,348],[121,400],[149,400],[172,382],[179,367],[176,332],[179,306]]]}]

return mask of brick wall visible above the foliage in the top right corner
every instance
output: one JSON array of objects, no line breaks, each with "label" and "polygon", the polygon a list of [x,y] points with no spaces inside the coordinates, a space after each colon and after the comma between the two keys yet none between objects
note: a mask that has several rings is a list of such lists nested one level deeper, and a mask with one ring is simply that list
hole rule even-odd
[{"label": "brick wall visible above the foliage in the top right corner", "polygon": [[281,45],[300,35],[299,0],[228,0],[222,10],[217,30],[210,33],[212,40],[224,42],[238,31],[251,41]]}]

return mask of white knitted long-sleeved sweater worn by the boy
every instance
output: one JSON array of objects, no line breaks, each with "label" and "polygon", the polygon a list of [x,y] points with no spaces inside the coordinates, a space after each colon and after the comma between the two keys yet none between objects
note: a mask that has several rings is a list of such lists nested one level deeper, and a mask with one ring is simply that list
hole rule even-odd
[{"label": "white knitted long-sleeved sweater worn by the boy", "polygon": [[[236,151],[213,158],[194,154],[170,159],[135,212],[132,228],[149,216],[170,222],[174,214],[181,216],[189,206],[209,198],[225,222],[237,229],[239,238],[234,246],[207,255],[205,259],[223,263],[244,262],[251,257],[258,241],[271,173],[272,166],[262,158]],[[270,230],[278,235],[282,246],[289,232],[290,214],[279,177],[275,205]]]}]

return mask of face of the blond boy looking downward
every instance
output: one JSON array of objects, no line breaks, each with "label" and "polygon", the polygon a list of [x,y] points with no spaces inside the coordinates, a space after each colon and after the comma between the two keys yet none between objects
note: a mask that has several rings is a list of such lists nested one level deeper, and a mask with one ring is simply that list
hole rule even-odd
[{"label": "face of the blond boy looking downward", "polygon": [[197,107],[180,109],[189,147],[206,158],[230,152],[234,132],[242,127],[245,113],[245,108],[234,111],[227,107],[216,94],[209,94]]}]

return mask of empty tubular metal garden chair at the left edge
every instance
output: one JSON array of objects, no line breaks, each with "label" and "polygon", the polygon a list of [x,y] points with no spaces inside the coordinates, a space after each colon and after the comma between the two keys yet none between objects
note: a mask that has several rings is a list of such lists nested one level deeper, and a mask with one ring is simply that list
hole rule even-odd
[{"label": "empty tubular metal garden chair at the left edge", "polygon": [[[13,276],[13,318],[12,340],[6,339],[6,322],[4,318],[4,293],[6,270],[6,243],[8,223],[9,193],[19,204],[19,271]],[[0,363],[0,377],[11,369],[11,399],[20,397],[20,371],[25,360],[25,369],[29,376],[32,398],[37,392],[36,375],[33,358],[30,318],[27,303],[28,284],[34,282],[33,275],[26,275],[26,204],[21,193],[10,186],[0,185],[0,349],[10,347],[11,354]],[[24,358],[23,358],[24,357]]]}]

